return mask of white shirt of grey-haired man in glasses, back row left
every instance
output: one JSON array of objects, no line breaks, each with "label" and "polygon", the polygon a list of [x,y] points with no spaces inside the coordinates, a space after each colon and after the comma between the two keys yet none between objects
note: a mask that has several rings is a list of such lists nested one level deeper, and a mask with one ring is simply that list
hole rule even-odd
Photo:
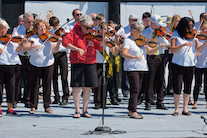
[{"label": "white shirt of grey-haired man in glasses, back row left", "polygon": [[[16,30],[16,27],[13,29],[13,32]],[[23,37],[26,37],[26,28],[25,28],[25,26],[24,26],[24,24],[23,25],[20,25],[20,27],[18,28],[18,30],[14,33],[14,36],[21,36],[22,38]],[[12,32],[12,33],[13,33]],[[18,53],[19,55],[21,55],[21,56],[26,56],[25,54],[24,54],[24,51],[23,51],[23,49]]]}]

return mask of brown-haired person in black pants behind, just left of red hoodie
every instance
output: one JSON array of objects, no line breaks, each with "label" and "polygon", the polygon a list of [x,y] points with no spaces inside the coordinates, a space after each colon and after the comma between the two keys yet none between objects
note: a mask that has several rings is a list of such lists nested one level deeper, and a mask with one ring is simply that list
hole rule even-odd
[{"label": "brown-haired person in black pants behind, just left of red hoodie", "polygon": [[[52,29],[49,32],[54,33],[54,31],[57,30],[59,27],[59,19],[53,16],[49,19],[49,24],[52,27]],[[68,104],[68,97],[69,97],[68,58],[67,58],[68,51],[69,50],[67,48],[65,48],[62,44],[60,44],[60,48],[58,52],[54,54],[55,63],[54,63],[54,72],[53,72],[53,89],[55,94],[54,97],[55,101],[52,104],[58,104],[58,103],[60,103],[61,105]],[[63,89],[62,102],[60,102],[60,95],[58,89],[58,66],[60,67],[61,70],[60,74],[61,74],[62,89]]]}]

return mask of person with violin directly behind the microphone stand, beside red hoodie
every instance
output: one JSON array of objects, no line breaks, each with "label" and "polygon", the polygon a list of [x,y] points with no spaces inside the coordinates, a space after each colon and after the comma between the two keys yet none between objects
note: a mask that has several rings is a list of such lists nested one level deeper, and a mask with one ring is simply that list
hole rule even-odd
[{"label": "person with violin directly behind the microphone stand, beside red hoodie", "polygon": [[[104,27],[104,29],[103,29]],[[107,22],[102,22],[99,24],[98,26],[98,30],[97,32],[99,33],[99,36],[102,37],[102,29],[104,30],[104,42],[105,42],[105,53],[103,53],[103,51],[98,51],[96,58],[97,58],[97,74],[98,74],[98,87],[94,88],[94,103],[95,103],[95,107],[94,109],[99,109],[99,108],[107,108],[106,106],[103,105],[103,96],[104,99],[106,98],[106,92],[103,95],[103,77],[102,77],[102,67],[103,64],[105,64],[106,66],[106,84],[105,87],[107,88],[107,83],[109,81],[109,77],[111,77],[111,75],[113,75],[113,65],[112,65],[112,59],[110,56],[110,52],[112,54],[117,54],[117,45],[114,43],[114,41],[112,41],[110,39],[110,37],[107,35],[108,34],[108,24]],[[96,38],[96,37],[95,37]],[[118,37],[116,37],[118,38]],[[108,43],[108,44],[107,44]],[[109,45],[109,46],[107,46]],[[116,48],[116,49],[115,49]],[[105,54],[105,60],[104,60],[104,55]],[[107,59],[107,60],[106,60]],[[103,63],[104,61],[104,63]],[[111,99],[115,99],[117,95],[113,94],[112,91],[109,91]],[[104,100],[104,102],[106,102]]]}]

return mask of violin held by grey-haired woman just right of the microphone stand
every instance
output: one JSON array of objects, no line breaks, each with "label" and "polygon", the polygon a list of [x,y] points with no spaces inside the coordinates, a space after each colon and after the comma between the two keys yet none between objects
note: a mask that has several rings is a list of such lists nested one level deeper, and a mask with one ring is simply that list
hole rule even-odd
[{"label": "violin held by grey-haired woman just right of the microphone stand", "polygon": [[147,44],[148,46],[155,48],[158,45],[158,41],[156,39],[148,40],[145,36],[141,36],[140,38],[136,39],[135,42],[139,47]]}]

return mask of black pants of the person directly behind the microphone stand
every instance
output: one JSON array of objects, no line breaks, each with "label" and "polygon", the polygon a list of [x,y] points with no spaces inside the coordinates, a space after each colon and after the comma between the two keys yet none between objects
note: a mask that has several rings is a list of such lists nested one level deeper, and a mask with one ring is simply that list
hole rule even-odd
[{"label": "black pants of the person directly behind the microphone stand", "polygon": [[[106,65],[106,70],[105,70],[105,76],[107,74],[108,71],[108,64]],[[103,106],[103,102],[106,102],[106,100],[103,101],[103,98],[106,99],[106,88],[107,88],[107,83],[108,83],[108,79],[105,78],[105,92],[103,95],[103,64],[102,63],[97,63],[97,75],[98,75],[98,87],[94,88],[94,103],[95,105],[100,105]]]}]

